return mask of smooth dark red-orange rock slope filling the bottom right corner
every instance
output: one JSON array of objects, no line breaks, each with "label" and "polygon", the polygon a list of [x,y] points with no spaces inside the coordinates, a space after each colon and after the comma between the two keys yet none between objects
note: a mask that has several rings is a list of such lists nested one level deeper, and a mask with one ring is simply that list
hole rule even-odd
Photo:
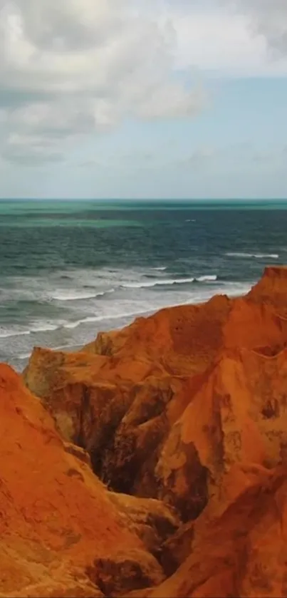
[{"label": "smooth dark red-orange rock slope filling the bottom right corner", "polygon": [[[286,596],[287,469],[236,468],[229,483],[236,488],[232,500],[217,513],[207,507],[189,526],[186,558],[177,572],[129,598]],[[177,545],[178,553],[179,540]]]}]

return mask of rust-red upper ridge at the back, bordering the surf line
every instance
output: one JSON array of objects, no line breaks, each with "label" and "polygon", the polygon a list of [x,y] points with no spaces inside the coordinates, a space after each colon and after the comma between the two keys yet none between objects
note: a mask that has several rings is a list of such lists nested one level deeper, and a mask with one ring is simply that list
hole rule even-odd
[{"label": "rust-red upper ridge at the back, bordering the surf line", "polygon": [[260,301],[256,289],[264,280],[244,298],[216,296],[204,304],[169,307],[138,318],[120,331],[100,333],[84,350],[121,360],[141,356],[169,373],[190,376],[204,371],[226,347],[279,349],[287,339],[287,324],[271,300]]}]

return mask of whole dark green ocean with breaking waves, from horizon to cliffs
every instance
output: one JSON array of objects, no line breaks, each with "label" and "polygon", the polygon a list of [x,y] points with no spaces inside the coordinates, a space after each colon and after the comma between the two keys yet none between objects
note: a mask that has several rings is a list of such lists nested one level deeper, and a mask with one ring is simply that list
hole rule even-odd
[{"label": "whole dark green ocean with breaking waves, from horizon to cliffs", "polygon": [[282,202],[0,202],[0,361],[163,306],[244,294],[287,262]]}]

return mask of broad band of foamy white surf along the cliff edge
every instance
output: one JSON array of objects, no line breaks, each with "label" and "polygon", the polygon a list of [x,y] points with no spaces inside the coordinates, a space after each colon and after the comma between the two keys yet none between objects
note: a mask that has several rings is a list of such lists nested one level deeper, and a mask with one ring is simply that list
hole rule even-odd
[{"label": "broad band of foamy white surf along the cliff edge", "polygon": [[[68,278],[62,280],[59,272],[43,279],[23,277],[17,284],[19,292],[29,290],[35,303],[40,303],[35,315],[29,307],[23,326],[7,324],[0,327],[2,346],[7,356],[19,359],[18,367],[21,368],[35,344],[51,348],[61,344],[62,349],[72,349],[92,341],[98,331],[121,328],[137,316],[148,316],[167,306],[201,303],[216,293],[231,297],[240,295],[251,287],[244,282],[217,280],[216,274],[204,274],[204,266],[203,274],[195,278],[192,262],[187,268],[186,276],[183,272],[171,276],[162,264],[145,268],[67,271]],[[151,277],[152,272],[155,278]],[[65,271],[61,273],[64,275]],[[115,292],[114,296],[106,296]],[[4,341],[6,337],[12,338]],[[11,357],[11,361],[13,359]]]}]

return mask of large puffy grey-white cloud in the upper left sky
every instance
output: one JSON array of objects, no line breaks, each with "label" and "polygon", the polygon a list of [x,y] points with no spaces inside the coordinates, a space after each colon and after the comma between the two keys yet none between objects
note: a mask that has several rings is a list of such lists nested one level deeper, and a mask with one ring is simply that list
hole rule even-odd
[{"label": "large puffy grey-white cloud in the upper left sky", "polygon": [[59,143],[126,117],[189,117],[201,109],[199,91],[175,77],[172,26],[134,7],[132,0],[2,0],[6,145],[10,133],[32,145],[36,134]]}]

